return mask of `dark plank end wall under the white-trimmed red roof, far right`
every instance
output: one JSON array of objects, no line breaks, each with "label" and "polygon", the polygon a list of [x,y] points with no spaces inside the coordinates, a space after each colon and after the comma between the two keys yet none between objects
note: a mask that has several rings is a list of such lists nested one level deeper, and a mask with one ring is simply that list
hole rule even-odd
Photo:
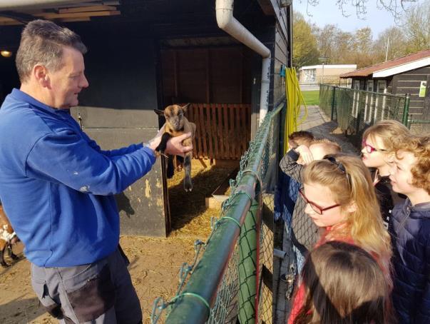
[{"label": "dark plank end wall under the white-trimmed red roof, far right", "polygon": [[411,93],[411,101],[409,103],[409,113],[416,115],[414,118],[421,118],[420,115],[424,112],[424,98],[419,98],[419,86],[421,81],[427,81],[430,75],[430,66],[424,66],[420,69],[406,71],[402,74],[397,74],[393,77],[393,93],[404,95]]}]

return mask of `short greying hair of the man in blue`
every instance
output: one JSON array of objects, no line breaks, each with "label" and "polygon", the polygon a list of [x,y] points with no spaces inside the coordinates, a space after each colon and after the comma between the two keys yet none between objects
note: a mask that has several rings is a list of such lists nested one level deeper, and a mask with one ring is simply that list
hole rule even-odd
[{"label": "short greying hair of the man in blue", "polygon": [[58,71],[63,66],[63,46],[68,46],[86,54],[86,46],[81,37],[52,21],[34,20],[29,22],[21,34],[21,43],[16,52],[16,69],[21,83],[27,81],[36,64],[50,71]]}]

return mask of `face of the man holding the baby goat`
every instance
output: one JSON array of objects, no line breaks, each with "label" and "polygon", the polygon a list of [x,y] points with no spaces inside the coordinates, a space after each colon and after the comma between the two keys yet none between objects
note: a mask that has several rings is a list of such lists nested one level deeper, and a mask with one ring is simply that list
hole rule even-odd
[{"label": "face of the man holding the baby goat", "polygon": [[53,108],[68,109],[78,105],[78,93],[88,87],[84,70],[81,52],[63,47],[63,66],[58,71],[48,71]]}]

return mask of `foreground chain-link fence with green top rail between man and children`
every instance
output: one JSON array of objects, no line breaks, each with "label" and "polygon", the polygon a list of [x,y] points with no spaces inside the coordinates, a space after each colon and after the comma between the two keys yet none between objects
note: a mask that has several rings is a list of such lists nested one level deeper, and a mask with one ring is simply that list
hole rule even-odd
[{"label": "foreground chain-link fence with green top rail between man and children", "polygon": [[[183,264],[175,297],[154,302],[152,323],[272,323],[273,208],[277,182],[280,111],[267,113],[232,193],[192,265]],[[203,253],[200,253],[203,252]]]}]

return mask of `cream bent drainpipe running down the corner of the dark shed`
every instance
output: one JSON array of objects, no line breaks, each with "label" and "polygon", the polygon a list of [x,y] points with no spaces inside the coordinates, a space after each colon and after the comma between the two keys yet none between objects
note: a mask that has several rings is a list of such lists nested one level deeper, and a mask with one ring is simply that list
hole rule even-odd
[{"label": "cream bent drainpipe running down the corner of the dark shed", "polygon": [[267,49],[261,41],[233,17],[233,2],[234,0],[216,0],[217,24],[227,34],[262,56],[260,92],[260,123],[262,123],[269,109],[270,49]]}]

